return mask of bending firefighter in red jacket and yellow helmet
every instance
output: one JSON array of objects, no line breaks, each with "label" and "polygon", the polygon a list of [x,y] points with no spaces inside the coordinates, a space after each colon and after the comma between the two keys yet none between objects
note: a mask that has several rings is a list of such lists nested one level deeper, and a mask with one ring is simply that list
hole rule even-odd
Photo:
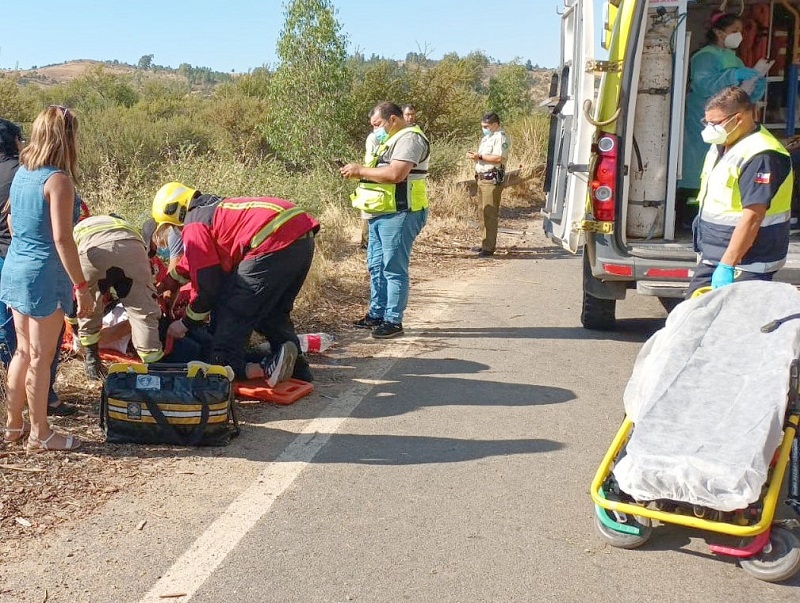
[{"label": "bending firefighter in red jacket and yellow helmet", "polygon": [[[311,267],[319,223],[283,199],[223,199],[180,182],[159,189],[152,214],[157,243],[163,245],[173,228],[183,240],[183,258],[167,287],[190,282],[192,289],[185,316],[168,333],[182,338],[213,311],[213,363],[231,366],[239,379],[263,377],[273,387],[290,377],[311,381],[290,314]],[[253,331],[272,350],[258,363],[245,356]]]}]

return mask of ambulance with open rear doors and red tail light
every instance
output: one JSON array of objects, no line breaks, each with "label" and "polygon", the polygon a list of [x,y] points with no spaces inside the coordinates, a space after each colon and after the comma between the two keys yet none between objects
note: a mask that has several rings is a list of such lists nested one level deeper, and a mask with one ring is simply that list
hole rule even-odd
[{"label": "ambulance with open rear doors and red tail light", "polygon": [[[697,255],[690,226],[676,217],[676,183],[689,58],[715,10],[741,15],[746,65],[774,61],[758,119],[788,142],[800,126],[800,0],[606,0],[597,26],[595,0],[564,0],[543,224],[552,241],[583,255],[588,329],[613,329],[617,301],[630,290],[669,310],[693,275]],[[776,279],[798,284],[800,237],[791,239]]]}]

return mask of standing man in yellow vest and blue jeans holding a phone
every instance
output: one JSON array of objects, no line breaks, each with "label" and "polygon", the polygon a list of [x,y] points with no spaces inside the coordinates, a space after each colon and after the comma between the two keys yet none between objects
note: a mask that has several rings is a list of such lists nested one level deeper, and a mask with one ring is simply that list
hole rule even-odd
[{"label": "standing man in yellow vest and blue jeans holding a phone", "polygon": [[351,200],[369,218],[370,303],[355,326],[388,339],[403,334],[411,248],[428,216],[430,143],[419,126],[406,125],[394,103],[377,105],[371,115],[381,145],[377,157],[369,166],[349,163],[341,174],[360,180]]}]

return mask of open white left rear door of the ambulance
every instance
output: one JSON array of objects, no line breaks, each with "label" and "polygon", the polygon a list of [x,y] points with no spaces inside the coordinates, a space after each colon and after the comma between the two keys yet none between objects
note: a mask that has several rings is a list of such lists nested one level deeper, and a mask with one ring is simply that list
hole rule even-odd
[{"label": "open white left rear door of the ambulance", "polygon": [[544,190],[544,231],[572,253],[583,246],[594,126],[583,104],[594,99],[593,0],[564,0],[561,65],[550,89],[550,138]]}]

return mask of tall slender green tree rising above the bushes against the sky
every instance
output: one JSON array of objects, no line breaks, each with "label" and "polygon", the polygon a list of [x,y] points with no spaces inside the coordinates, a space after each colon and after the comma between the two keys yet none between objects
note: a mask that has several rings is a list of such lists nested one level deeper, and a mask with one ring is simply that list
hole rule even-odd
[{"label": "tall slender green tree rising above the bushes against the sky", "polygon": [[350,95],[347,38],[330,0],[291,0],[285,15],[265,136],[289,163],[340,156]]}]

